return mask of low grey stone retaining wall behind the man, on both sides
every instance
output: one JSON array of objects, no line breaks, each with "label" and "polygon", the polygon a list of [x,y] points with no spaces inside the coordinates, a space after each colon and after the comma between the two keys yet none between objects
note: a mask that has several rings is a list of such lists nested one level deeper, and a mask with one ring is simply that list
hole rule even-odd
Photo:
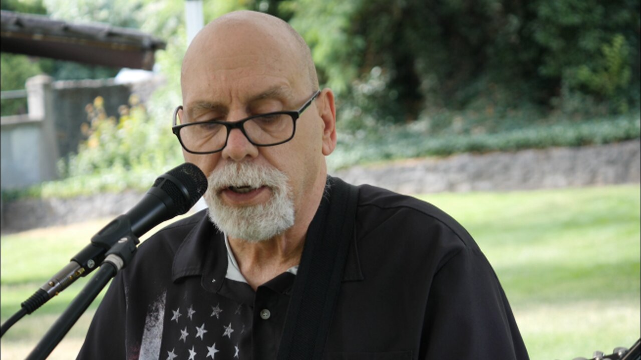
[{"label": "low grey stone retaining wall behind the man, on both sides", "polygon": [[[638,184],[641,183],[641,142],[632,140],[579,148],[460,154],[448,158],[353,167],[333,175],[350,183],[375,184],[401,193]],[[113,217],[134,206],[142,195],[125,192],[76,199],[28,199],[7,203],[3,206],[3,232]]]}]

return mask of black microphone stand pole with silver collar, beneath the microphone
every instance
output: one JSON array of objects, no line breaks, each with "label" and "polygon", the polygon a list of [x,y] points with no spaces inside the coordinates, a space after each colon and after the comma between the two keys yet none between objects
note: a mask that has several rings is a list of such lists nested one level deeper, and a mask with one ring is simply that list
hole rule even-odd
[{"label": "black microphone stand pole with silver collar, beneath the microphone", "polygon": [[78,293],[71,304],[69,304],[69,307],[60,315],[60,318],[51,326],[49,331],[47,331],[38,345],[33,348],[26,359],[46,359],[46,357],[51,354],[62,338],[67,335],[67,332],[69,332],[71,327],[78,321],[78,318],[85,313],[87,307],[96,299],[104,286],[106,286],[119,270],[129,264],[137,250],[136,245],[138,245],[138,243],[140,243],[140,240],[138,240],[135,235],[129,234],[122,237],[121,240],[113,245],[106,253],[106,258],[97,273],[85,285],[83,290]]}]

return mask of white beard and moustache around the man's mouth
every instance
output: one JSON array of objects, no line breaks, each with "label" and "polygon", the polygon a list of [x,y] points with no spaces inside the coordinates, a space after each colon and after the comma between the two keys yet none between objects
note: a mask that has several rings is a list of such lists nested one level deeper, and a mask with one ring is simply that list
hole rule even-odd
[{"label": "white beard and moustache around the man's mouth", "polygon": [[[208,176],[204,201],[209,217],[223,233],[257,243],[285,233],[294,225],[294,201],[290,198],[287,176],[272,167],[252,163],[228,163]],[[272,197],[256,206],[229,206],[219,191],[229,186],[267,186]]]}]

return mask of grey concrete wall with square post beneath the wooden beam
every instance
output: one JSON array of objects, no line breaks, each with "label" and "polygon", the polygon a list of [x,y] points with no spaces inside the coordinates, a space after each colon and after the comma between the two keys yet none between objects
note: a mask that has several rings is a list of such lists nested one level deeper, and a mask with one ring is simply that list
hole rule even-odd
[{"label": "grey concrete wall with square post beneath the wooden beam", "polygon": [[108,116],[119,117],[119,107],[137,93],[142,102],[160,83],[148,78],[138,83],[116,83],[114,79],[53,81],[35,76],[26,83],[28,115],[2,117],[1,188],[25,188],[56,179],[56,164],[78,150],[85,140],[81,126],[88,124],[87,104],[97,96],[104,99]]}]

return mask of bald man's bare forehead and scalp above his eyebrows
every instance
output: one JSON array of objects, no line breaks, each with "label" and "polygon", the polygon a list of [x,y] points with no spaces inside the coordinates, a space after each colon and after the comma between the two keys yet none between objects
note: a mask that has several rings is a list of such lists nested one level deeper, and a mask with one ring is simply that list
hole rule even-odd
[{"label": "bald man's bare forehead and scalp above his eyebrows", "polygon": [[275,87],[297,88],[302,78],[300,56],[279,31],[270,30],[231,24],[199,34],[183,61],[183,104],[256,97]]}]

